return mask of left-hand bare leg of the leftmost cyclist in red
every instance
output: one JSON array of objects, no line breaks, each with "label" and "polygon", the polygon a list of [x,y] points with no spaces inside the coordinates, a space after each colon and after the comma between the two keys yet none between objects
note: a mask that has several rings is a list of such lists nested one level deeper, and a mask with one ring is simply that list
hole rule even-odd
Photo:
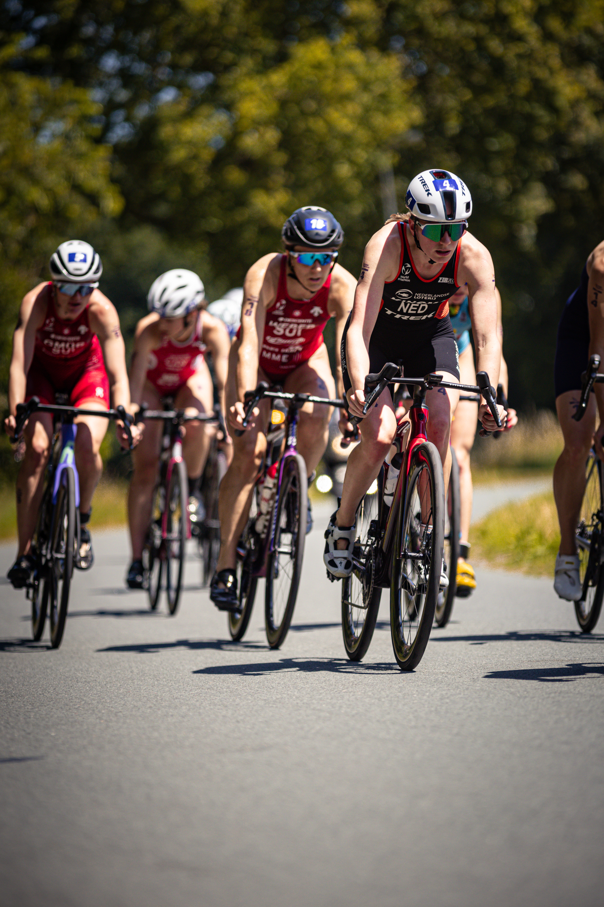
[{"label": "left-hand bare leg of the leftmost cyclist in red", "polygon": [[48,462],[53,437],[53,416],[34,413],[24,428],[25,454],[16,482],[17,557],[26,554],[32,543],[38,510],[42,502],[43,473]]}]

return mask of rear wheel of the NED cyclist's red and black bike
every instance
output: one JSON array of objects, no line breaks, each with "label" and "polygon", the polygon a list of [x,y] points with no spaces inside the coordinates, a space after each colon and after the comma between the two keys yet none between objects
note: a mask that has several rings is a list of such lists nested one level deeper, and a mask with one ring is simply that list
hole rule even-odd
[{"label": "rear wheel of the NED cyclist's red and black bike", "polygon": [[344,649],[350,661],[360,661],[378,620],[381,589],[375,579],[375,532],[378,522],[378,494],[366,494],[357,511],[357,538],[352,551],[352,573],[342,580],[341,618]]}]

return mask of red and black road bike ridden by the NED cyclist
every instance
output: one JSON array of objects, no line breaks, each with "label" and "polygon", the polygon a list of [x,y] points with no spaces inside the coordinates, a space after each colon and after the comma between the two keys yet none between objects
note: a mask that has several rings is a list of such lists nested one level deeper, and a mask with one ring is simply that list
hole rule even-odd
[{"label": "red and black road bike ridden by the NED cyclist", "polygon": [[[366,512],[368,495],[360,502],[352,574],[342,581],[341,619],[344,648],[351,660],[359,661],[369,649],[381,590],[389,588],[394,655],[401,670],[413,670],[426,650],[432,629],[445,545],[445,483],[440,455],[427,440],[427,391],[450,387],[482,394],[496,424],[501,425],[501,421],[494,388],[485,372],[476,375],[477,385],[458,385],[434,374],[401,378],[400,366],[391,362],[379,374],[367,375],[363,414],[369,412],[388,384],[401,380],[415,388],[413,405],[408,420],[398,424],[394,441],[397,453],[379,473],[377,515]],[[388,470],[393,468],[399,471],[398,480],[388,506],[383,492]],[[329,571],[328,577],[333,579]]]}]

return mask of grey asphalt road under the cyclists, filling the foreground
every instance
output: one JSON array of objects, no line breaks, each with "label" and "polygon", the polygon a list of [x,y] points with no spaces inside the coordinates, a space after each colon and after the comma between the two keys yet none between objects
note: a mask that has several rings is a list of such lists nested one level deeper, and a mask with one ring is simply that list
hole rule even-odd
[{"label": "grey asphalt road under the cyclists, filling the foreground", "polygon": [[150,613],[124,532],[94,538],[56,652],[1,587],[3,907],[602,903],[604,636],[550,580],[477,571],[415,673],[386,592],[352,665],[323,522],[279,652],[263,589],[233,644],[195,558]]}]

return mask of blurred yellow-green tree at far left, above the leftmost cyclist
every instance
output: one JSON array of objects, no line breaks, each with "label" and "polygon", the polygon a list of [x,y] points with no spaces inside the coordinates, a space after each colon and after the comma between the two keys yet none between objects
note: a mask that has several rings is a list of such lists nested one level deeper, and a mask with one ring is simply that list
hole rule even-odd
[{"label": "blurred yellow-green tree at far left, above the leftmost cyclist", "polygon": [[13,72],[18,46],[0,50],[0,382],[14,317],[48,255],[48,239],[102,212],[115,216],[110,149],[95,140],[100,105],[70,83]]}]

